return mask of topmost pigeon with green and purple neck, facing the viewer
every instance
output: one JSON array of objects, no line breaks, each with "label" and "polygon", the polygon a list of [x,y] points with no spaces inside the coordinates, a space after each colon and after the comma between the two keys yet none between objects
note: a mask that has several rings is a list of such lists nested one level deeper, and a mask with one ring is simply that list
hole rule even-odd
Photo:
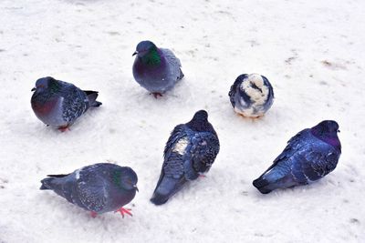
[{"label": "topmost pigeon with green and purple neck, facing the viewer", "polygon": [[180,60],[169,49],[141,41],[132,56],[134,79],[157,98],[183,78]]}]

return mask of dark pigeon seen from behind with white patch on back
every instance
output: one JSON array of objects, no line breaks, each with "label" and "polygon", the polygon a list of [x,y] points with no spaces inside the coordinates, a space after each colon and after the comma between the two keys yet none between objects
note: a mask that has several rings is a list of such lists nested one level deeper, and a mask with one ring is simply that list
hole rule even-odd
[{"label": "dark pigeon seen from behind with white patch on back", "polygon": [[190,122],[176,126],[164,149],[161,176],[151,202],[162,205],[187,181],[203,176],[218,152],[218,136],[206,111],[200,110]]}]

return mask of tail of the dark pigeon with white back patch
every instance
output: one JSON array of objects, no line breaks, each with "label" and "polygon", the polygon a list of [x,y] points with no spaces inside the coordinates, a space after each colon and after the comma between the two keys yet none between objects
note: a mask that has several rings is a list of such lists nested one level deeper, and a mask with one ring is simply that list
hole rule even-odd
[{"label": "tail of the dark pigeon with white back patch", "polygon": [[166,203],[170,197],[178,192],[186,182],[185,177],[179,179],[171,177],[162,177],[161,182],[157,185],[150,201],[154,205],[162,205]]}]

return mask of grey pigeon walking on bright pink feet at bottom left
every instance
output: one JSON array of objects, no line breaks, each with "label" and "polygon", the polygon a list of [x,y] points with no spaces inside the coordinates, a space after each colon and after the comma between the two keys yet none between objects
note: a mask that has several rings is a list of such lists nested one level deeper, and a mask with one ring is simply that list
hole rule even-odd
[{"label": "grey pigeon walking on bright pink feet at bottom left", "polygon": [[44,178],[41,190],[53,190],[68,202],[97,214],[110,211],[131,216],[124,205],[136,195],[138,177],[130,167],[99,163],[81,167],[67,175],[49,175]]}]

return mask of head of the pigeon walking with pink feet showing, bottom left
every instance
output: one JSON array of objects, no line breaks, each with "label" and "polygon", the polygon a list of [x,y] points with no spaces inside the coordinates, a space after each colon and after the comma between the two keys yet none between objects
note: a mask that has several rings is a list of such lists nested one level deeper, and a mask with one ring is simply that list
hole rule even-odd
[{"label": "head of the pigeon walking with pink feet showing, bottom left", "polygon": [[113,183],[124,190],[137,190],[138,177],[130,167],[121,167],[113,172]]}]

